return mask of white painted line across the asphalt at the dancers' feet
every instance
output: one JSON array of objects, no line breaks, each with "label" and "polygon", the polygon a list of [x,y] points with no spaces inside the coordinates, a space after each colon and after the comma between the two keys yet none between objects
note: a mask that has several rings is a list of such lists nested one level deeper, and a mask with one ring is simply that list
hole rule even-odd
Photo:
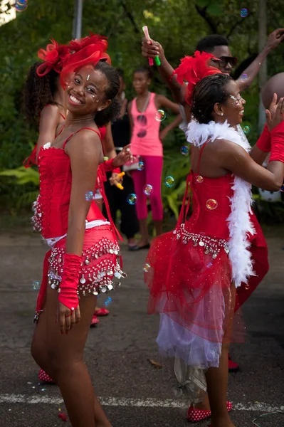
[{"label": "white painted line across the asphalt at the dancers' feet", "polygon": [[[178,400],[159,399],[131,399],[127,397],[100,397],[102,406],[137,406],[140,408],[184,408],[186,405]],[[48,404],[61,405],[63,400],[58,397],[49,397],[28,394],[0,394],[0,404]],[[272,406],[263,402],[251,404],[233,403],[236,411],[255,412],[283,412],[284,406]]]}]

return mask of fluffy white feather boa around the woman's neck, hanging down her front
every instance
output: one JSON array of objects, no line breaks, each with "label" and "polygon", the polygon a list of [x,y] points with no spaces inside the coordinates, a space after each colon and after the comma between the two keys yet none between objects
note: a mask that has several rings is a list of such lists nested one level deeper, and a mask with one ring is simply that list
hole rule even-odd
[{"label": "fluffy white feather boa around the woman's neck, hanging down her front", "polygon": [[[191,120],[186,131],[187,141],[196,147],[201,147],[209,138],[211,142],[215,139],[228,139],[243,147],[246,152],[251,149],[241,127],[238,127],[238,131],[236,131],[228,125],[228,122],[223,124],[209,122],[204,125]],[[238,288],[241,283],[248,283],[251,275],[255,275],[247,236],[248,233],[254,234],[255,230],[249,216],[252,204],[251,184],[234,176],[232,189],[231,214],[227,218],[230,236],[228,256],[232,266],[232,281]]]}]

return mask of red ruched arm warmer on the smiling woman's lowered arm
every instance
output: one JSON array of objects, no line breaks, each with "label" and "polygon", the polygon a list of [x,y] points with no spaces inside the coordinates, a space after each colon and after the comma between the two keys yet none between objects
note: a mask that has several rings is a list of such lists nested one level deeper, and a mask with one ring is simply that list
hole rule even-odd
[{"label": "red ruched arm warmer on the smiling woman's lowered arm", "polygon": [[58,300],[70,310],[75,310],[79,304],[77,288],[81,263],[82,257],[72,253],[65,253],[62,280],[58,289],[60,290]]}]

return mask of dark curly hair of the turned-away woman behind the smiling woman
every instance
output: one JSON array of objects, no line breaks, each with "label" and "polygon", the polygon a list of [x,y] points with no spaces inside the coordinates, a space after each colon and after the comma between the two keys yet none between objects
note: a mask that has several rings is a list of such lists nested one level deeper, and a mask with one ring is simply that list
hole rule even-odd
[{"label": "dark curly hair of the turned-away woman behind the smiling woman", "polygon": [[38,77],[36,69],[40,64],[37,62],[28,70],[23,88],[23,110],[26,120],[33,126],[38,126],[43,107],[48,104],[58,105],[53,97],[58,90],[59,74],[51,70],[43,77]]}]

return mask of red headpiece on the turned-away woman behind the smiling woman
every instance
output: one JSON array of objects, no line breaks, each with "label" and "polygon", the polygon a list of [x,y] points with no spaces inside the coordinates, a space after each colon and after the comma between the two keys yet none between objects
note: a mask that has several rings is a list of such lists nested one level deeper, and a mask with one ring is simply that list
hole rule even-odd
[{"label": "red headpiece on the turned-away woman behind the smiling woman", "polygon": [[39,49],[38,58],[42,59],[44,62],[41,65],[38,65],[36,73],[39,77],[48,74],[52,69],[56,73],[61,73],[63,68],[63,63],[70,55],[68,46],[58,44],[53,38],[51,38],[51,44],[46,46],[46,51],[44,49]]}]

